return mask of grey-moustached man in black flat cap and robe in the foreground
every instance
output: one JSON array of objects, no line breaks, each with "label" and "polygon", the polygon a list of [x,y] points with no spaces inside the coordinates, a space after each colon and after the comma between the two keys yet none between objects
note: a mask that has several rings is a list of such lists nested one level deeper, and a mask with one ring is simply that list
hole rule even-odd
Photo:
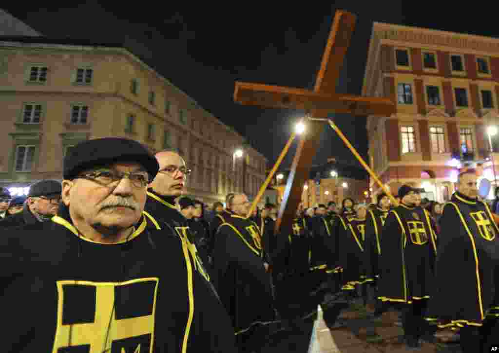
[{"label": "grey-moustached man in black flat cap and robe in the foreground", "polygon": [[235,352],[230,320],[187,244],[146,227],[157,172],[132,140],[69,151],[58,214],[0,237],[5,352]]}]

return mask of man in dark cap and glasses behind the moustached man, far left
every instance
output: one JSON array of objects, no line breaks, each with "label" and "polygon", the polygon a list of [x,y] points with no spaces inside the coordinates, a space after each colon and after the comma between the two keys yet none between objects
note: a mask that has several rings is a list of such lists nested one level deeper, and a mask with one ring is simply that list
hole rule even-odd
[{"label": "man in dark cap and glasses behind the moustached man, far left", "polygon": [[22,212],[3,219],[0,226],[12,227],[50,221],[59,210],[61,191],[61,183],[57,180],[41,180],[31,185]]}]

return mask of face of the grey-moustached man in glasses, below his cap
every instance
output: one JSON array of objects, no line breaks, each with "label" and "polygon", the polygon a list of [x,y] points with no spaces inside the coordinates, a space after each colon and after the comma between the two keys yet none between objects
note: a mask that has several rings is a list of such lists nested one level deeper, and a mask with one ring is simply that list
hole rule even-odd
[{"label": "face of the grey-moustached man in glasses, below his cap", "polygon": [[[131,173],[134,181],[127,177],[112,182],[105,176],[87,178],[94,171]],[[69,207],[73,221],[77,217],[93,228],[127,229],[139,221],[144,210],[148,177],[144,168],[136,163],[96,168],[82,173],[75,180],[64,180],[63,201]],[[145,183],[139,182],[143,178]]]}]

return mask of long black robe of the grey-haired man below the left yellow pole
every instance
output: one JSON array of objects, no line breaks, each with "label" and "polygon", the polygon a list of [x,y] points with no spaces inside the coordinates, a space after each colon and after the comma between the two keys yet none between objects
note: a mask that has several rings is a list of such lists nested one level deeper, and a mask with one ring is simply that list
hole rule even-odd
[{"label": "long black robe of the grey-haired man below the left yellow pole", "polygon": [[215,285],[238,335],[273,320],[273,297],[258,226],[237,215],[225,220],[216,235]]}]

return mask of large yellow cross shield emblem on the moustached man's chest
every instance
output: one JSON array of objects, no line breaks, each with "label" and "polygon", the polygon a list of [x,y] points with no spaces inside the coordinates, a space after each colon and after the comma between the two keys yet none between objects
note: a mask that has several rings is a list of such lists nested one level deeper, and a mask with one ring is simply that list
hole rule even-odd
[{"label": "large yellow cross shield emblem on the moustached man's chest", "polygon": [[122,283],[57,281],[52,353],[76,346],[90,353],[111,352],[111,347],[120,353],[140,353],[141,348],[152,353],[158,283],[156,277]]}]

